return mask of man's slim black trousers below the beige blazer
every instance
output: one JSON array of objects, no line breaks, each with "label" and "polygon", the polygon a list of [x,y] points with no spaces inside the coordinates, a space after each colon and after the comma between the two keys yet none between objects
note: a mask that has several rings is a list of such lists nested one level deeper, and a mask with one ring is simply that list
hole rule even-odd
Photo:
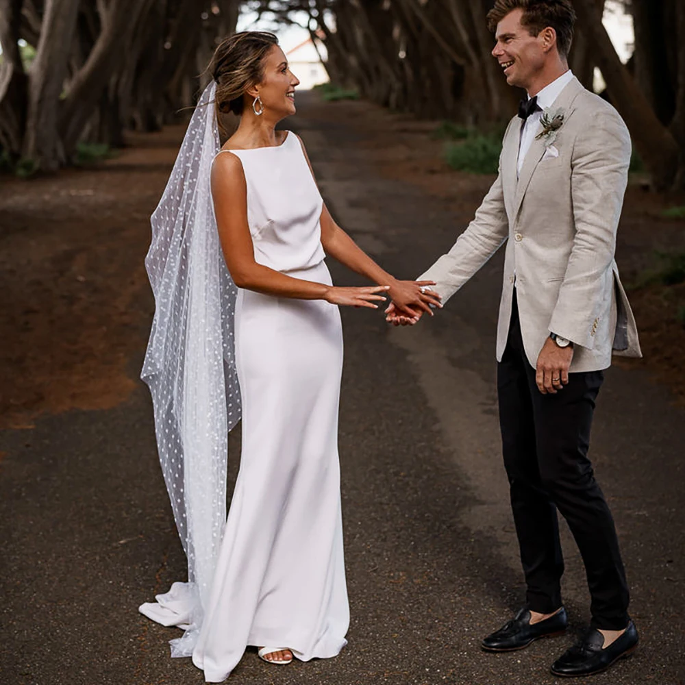
[{"label": "man's slim black trousers below the beige blazer", "polygon": [[562,605],[564,560],[557,510],[573,533],[590,587],[593,627],[627,626],[629,593],[614,520],[588,460],[590,426],[603,373],[569,374],[556,395],[535,384],[516,305],[497,367],[499,421],[527,603],[543,614]]}]

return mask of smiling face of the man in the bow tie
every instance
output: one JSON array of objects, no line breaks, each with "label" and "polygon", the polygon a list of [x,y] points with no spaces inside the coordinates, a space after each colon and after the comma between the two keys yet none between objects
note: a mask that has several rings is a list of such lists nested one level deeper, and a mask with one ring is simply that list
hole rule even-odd
[{"label": "smiling face of the man in the bow tie", "polygon": [[536,73],[545,66],[548,51],[542,34],[531,36],[521,26],[523,10],[514,10],[497,24],[497,45],[493,57],[499,62],[510,86],[528,89]]}]

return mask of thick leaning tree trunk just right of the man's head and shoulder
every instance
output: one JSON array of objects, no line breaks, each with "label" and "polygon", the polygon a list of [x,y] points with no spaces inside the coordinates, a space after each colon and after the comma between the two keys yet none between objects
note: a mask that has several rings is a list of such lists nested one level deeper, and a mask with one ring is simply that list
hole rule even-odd
[{"label": "thick leaning tree trunk just right of the man's head and shoulder", "polygon": [[596,47],[597,65],[606,81],[616,109],[625,120],[635,145],[658,188],[675,181],[679,150],[675,138],[662,125],[645,95],[621,64],[619,55],[601,23],[594,0],[575,0],[581,21],[590,30]]}]

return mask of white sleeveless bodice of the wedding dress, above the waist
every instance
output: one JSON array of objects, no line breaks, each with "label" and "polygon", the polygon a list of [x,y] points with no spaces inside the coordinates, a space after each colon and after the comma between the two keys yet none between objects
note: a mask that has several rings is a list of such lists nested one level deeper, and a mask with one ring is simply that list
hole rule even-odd
[{"label": "white sleeveless bodice of the wedding dress, above the waist", "polygon": [[295,134],[277,147],[230,150],[247,182],[247,220],[258,264],[297,271],[319,264],[323,199]]}]

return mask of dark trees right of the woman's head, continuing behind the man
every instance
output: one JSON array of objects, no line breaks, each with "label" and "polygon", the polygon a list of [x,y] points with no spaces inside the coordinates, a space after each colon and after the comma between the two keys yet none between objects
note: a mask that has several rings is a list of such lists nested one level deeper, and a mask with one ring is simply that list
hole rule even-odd
[{"label": "dark trees right of the woman's head, continuing behind the man", "polygon": [[[602,22],[606,4],[634,18],[635,51],[622,64]],[[506,121],[521,92],[490,55],[493,0],[253,0],[282,21],[305,17],[325,45],[332,80],[418,116],[468,125]],[[660,188],[685,188],[685,30],[682,0],[573,0],[571,69],[587,87],[595,68]]]}]

